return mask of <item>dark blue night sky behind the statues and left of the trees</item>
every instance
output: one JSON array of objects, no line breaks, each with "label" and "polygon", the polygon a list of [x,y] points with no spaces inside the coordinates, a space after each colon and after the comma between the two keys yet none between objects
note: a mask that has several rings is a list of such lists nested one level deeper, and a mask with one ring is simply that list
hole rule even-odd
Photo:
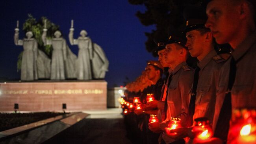
[{"label": "dark blue night sky behind the statues and left of the trees", "polygon": [[[128,0],[4,0],[0,4],[0,77],[20,79],[17,73],[17,57],[23,50],[13,42],[16,21],[20,21],[20,39],[24,38],[22,24],[28,13],[39,20],[46,16],[60,26],[68,41],[70,20],[74,20],[74,38],[82,29],[104,49],[109,59],[106,74],[108,87],[122,85],[125,76],[134,80],[145,68],[146,61],[156,59],[145,49],[144,32],[154,26],[145,27],[135,16],[145,11],[142,5],[131,5]],[[77,45],[68,45],[78,54]]]}]

